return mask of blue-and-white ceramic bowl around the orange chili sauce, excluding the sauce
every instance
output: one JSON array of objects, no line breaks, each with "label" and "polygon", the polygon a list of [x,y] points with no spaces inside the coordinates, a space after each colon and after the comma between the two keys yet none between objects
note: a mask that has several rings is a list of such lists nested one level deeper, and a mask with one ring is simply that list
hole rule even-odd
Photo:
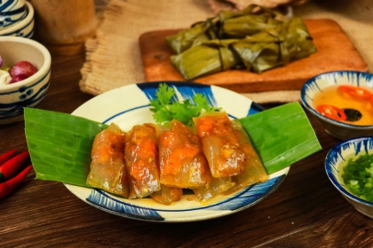
[{"label": "blue-and-white ceramic bowl around the orange chili sauce, excluding the sauce", "polygon": [[353,125],[330,119],[315,110],[315,106],[313,105],[315,94],[323,92],[329,86],[342,84],[373,89],[373,74],[355,71],[334,71],[316,75],[303,85],[300,92],[300,100],[306,109],[320,121],[330,136],[344,140],[357,136],[373,135],[373,124],[367,126]]}]

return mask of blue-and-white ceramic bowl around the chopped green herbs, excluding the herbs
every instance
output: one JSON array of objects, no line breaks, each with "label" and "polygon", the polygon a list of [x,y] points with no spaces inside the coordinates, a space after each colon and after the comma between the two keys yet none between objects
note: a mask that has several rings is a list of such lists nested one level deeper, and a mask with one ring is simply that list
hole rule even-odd
[{"label": "blue-and-white ceramic bowl around the chopped green herbs, excluding the herbs", "polygon": [[362,154],[373,154],[373,136],[359,137],[337,143],[327,154],[325,159],[325,170],[330,182],[342,194],[342,196],[353,205],[353,207],[373,218],[373,203],[354,196],[345,188],[342,179],[343,167],[350,158],[358,158]]}]

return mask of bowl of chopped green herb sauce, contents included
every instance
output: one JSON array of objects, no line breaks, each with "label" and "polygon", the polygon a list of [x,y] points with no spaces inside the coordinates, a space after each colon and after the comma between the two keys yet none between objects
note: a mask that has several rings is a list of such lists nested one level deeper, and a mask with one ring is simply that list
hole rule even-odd
[{"label": "bowl of chopped green herb sauce, contents included", "polygon": [[342,196],[373,218],[373,136],[337,143],[327,154],[325,170]]}]

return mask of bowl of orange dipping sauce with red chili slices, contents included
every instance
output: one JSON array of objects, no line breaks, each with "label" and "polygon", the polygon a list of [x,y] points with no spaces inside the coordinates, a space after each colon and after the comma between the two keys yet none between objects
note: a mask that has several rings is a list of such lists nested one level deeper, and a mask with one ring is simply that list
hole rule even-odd
[{"label": "bowl of orange dipping sauce with red chili slices, contents included", "polygon": [[333,71],[306,81],[300,100],[337,139],[373,136],[373,74]]}]

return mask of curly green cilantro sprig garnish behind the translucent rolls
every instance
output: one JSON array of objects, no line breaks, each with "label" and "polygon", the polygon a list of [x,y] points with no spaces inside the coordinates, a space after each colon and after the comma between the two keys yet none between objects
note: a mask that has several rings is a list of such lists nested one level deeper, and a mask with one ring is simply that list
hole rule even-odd
[{"label": "curly green cilantro sprig garnish behind the translucent rolls", "polygon": [[220,108],[211,107],[207,98],[200,93],[193,97],[193,101],[186,99],[182,102],[172,100],[175,90],[166,83],[161,83],[155,92],[155,99],[150,100],[150,111],[158,124],[167,124],[171,120],[179,120],[187,126],[193,125],[193,117],[202,112],[216,112]]}]

